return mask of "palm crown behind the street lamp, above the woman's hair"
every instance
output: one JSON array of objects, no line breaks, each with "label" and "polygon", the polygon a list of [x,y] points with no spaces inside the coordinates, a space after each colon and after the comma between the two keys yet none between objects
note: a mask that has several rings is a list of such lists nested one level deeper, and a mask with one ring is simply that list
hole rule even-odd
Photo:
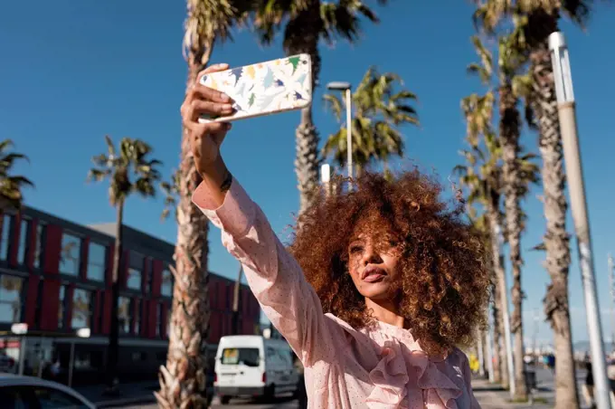
[{"label": "palm crown behind the street lamp, above the woman's hair", "polygon": [[[374,160],[382,161],[386,167],[391,156],[403,155],[403,138],[399,127],[405,124],[418,125],[416,110],[410,103],[416,100],[409,90],[395,91],[395,85],[402,80],[397,74],[378,73],[374,67],[365,72],[363,80],[352,95],[355,113],[353,127],[353,164],[356,176]],[[348,101],[336,95],[324,97],[338,122],[341,122],[344,106]],[[340,166],[345,166],[347,155],[346,128],[329,136],[323,147],[324,157],[332,155]]]}]

